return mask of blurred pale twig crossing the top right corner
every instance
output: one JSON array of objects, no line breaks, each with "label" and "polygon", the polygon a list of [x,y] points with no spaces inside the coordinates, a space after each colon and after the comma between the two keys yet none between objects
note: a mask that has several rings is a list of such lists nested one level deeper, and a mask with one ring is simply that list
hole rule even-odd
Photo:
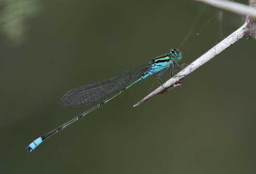
[{"label": "blurred pale twig crossing the top right corner", "polygon": [[234,12],[236,14],[241,15],[249,15],[252,17],[256,17],[256,10],[253,7],[249,7],[244,4],[240,4],[238,2],[233,2],[229,0],[196,0],[207,3],[214,7],[224,9],[230,12]]}]

